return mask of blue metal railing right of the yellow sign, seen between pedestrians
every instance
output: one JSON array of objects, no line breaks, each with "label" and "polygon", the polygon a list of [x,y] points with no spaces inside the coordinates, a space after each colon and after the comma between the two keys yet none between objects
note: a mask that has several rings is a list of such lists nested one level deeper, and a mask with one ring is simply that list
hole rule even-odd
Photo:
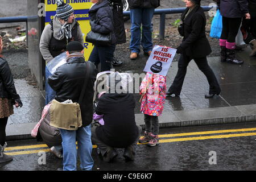
[{"label": "blue metal railing right of the yellow sign, seen between pedestrians", "polygon": [[[217,6],[201,6],[204,11],[209,11],[212,8],[217,8]],[[181,8],[171,8],[171,9],[155,9],[154,15],[160,15],[160,26],[159,26],[159,38],[164,39],[165,28],[166,28],[166,14],[177,14],[183,13],[185,11],[185,7]],[[130,11],[124,11],[124,16],[130,16]]]}]

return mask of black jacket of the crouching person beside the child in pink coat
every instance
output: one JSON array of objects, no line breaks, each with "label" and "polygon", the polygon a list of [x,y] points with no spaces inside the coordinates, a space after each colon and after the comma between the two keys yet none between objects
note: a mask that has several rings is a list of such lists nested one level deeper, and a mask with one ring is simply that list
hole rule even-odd
[{"label": "black jacket of the crouching person beside the child in pink coat", "polygon": [[104,125],[97,127],[97,137],[108,146],[117,148],[134,143],[138,137],[134,108],[133,94],[103,94],[98,100],[96,114],[104,114]]}]

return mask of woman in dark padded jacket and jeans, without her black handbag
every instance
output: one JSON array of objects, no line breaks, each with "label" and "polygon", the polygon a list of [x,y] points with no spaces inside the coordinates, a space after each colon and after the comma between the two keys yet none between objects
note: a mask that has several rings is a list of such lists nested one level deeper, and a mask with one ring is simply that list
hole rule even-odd
[{"label": "woman in dark padded jacket and jeans, without her black handbag", "polygon": [[101,63],[101,71],[110,71],[116,43],[113,11],[108,0],[92,0],[91,2],[94,3],[89,10],[92,31],[104,35],[110,34],[111,43],[107,46],[95,43],[89,61],[92,61],[96,68]]}]

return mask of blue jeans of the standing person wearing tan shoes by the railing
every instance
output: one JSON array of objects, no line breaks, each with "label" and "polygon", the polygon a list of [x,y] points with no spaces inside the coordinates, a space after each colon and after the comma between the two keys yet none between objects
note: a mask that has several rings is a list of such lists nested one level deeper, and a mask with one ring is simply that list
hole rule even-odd
[{"label": "blue jeans of the standing person wearing tan shoes by the railing", "polygon": [[152,51],[152,18],[154,11],[154,8],[139,8],[130,10],[131,52],[139,53],[141,46],[144,52]]}]

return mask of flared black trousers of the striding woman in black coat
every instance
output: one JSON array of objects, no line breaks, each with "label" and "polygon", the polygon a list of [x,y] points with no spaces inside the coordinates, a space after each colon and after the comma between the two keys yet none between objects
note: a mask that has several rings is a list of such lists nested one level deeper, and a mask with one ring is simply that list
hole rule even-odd
[{"label": "flared black trousers of the striding woman in black coat", "polygon": [[[169,92],[180,95],[184,78],[187,73],[187,67],[191,60],[192,57],[189,57],[184,53],[180,56],[178,62],[178,71],[174,78],[174,82],[168,90]],[[208,65],[207,57],[193,58],[193,60],[195,60],[195,63],[200,71],[203,72],[207,77],[209,83],[209,94],[220,94],[220,85],[218,84],[217,78],[215,77],[212,69]]]}]

